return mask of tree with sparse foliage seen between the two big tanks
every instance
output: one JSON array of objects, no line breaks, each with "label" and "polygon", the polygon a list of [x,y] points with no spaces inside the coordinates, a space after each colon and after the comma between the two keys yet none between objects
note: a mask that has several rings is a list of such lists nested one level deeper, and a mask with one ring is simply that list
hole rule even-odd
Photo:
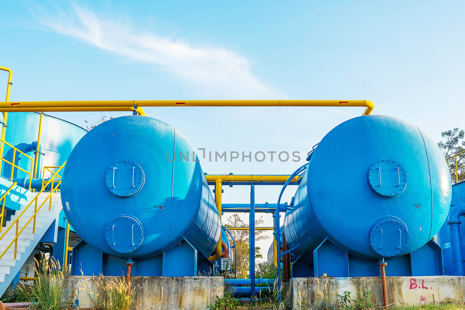
[{"label": "tree with sparse foliage seen between the two big tanks", "polygon": [[[255,220],[255,226],[263,224],[263,219],[260,217]],[[233,214],[227,219],[225,227],[249,227],[248,223],[245,223],[239,215]],[[255,231],[255,241],[266,240],[268,236],[264,235],[265,231]],[[248,230],[231,230],[231,234],[236,242],[236,248],[233,251],[237,251],[237,277],[242,279],[249,278],[249,231]],[[228,236],[229,238],[229,236]],[[229,240],[230,244],[233,244],[232,240]],[[255,247],[255,258],[263,258],[259,253],[260,247]],[[234,254],[234,253],[233,253]]]}]

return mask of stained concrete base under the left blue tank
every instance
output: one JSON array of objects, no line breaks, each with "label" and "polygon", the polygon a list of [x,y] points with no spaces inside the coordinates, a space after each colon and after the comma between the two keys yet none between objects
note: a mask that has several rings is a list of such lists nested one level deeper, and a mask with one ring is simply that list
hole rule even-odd
[{"label": "stained concrete base under the left blue tank", "polygon": [[[95,277],[96,278],[96,277]],[[79,306],[89,307],[90,299],[84,287],[97,292],[94,277],[70,276],[69,295],[79,296]],[[120,277],[105,277],[105,280]],[[134,309],[151,310],[200,310],[207,309],[223,297],[223,277],[132,277],[136,288]],[[85,284],[84,284],[85,282]],[[75,297],[74,297],[75,298]]]}]

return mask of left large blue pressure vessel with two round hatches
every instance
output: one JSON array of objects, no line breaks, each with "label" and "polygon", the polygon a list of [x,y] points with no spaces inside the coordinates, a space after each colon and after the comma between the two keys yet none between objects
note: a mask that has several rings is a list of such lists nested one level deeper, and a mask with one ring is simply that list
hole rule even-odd
[{"label": "left large blue pressure vessel with two round hatches", "polygon": [[183,238],[208,257],[221,233],[192,146],[152,117],[118,117],[89,131],[68,158],[61,200],[76,233],[117,257],[151,257]]}]

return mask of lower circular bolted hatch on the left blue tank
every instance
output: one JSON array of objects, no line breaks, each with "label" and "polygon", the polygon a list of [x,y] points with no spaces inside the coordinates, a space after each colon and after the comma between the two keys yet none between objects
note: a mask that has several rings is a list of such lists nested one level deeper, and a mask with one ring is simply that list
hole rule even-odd
[{"label": "lower circular bolted hatch on the left blue tank", "polygon": [[105,228],[106,243],[116,252],[130,253],[144,241],[144,228],[132,215],[115,216]]}]

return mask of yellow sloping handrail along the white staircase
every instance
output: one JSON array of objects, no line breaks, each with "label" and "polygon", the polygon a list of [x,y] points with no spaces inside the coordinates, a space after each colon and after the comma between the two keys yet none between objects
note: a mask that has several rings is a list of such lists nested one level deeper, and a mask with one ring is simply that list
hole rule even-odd
[{"label": "yellow sloping handrail along the white staircase", "polygon": [[[55,176],[60,172],[60,170],[65,166],[66,164],[66,161],[63,163],[63,165],[61,165],[60,169],[57,170],[57,172],[55,172],[53,175],[52,175],[52,179],[50,179],[49,181],[46,182],[46,184],[44,184],[42,186],[42,188],[40,189],[40,191],[35,195],[35,197],[31,200],[31,202],[29,202],[27,204],[27,206],[24,208],[24,210],[20,213],[20,215],[18,215],[18,217],[10,224],[10,226],[8,226],[7,230],[2,233],[2,235],[0,236],[0,241],[3,239],[3,237],[5,237],[5,235],[10,231],[10,229],[16,225],[16,235],[15,237],[13,238],[13,240],[10,242],[9,245],[7,245],[7,247],[5,248],[5,250],[0,254],[0,258],[3,257],[3,255],[5,255],[5,253],[8,251],[8,249],[13,245],[14,243],[14,254],[13,254],[13,259],[16,259],[16,252],[18,252],[18,237],[20,236],[20,234],[23,232],[23,230],[27,227],[27,225],[29,225],[29,223],[34,220],[34,223],[33,223],[33,233],[35,232],[35,218],[37,216],[37,213],[39,213],[40,209],[42,208],[42,206],[45,204],[45,202],[48,200],[48,198],[50,198],[50,206],[48,207],[48,210],[51,210],[52,208],[52,194],[53,192],[60,186],[60,182],[58,182],[57,186],[56,187],[53,187],[52,186],[52,189],[50,191],[50,194],[48,194],[48,196],[44,199],[44,201],[42,202],[42,204],[40,204],[40,206],[37,208],[37,199],[39,198],[39,195],[42,194],[44,192],[44,190],[46,189],[46,187],[48,186],[48,184],[50,184],[50,182],[52,182],[53,184],[53,181],[55,179]],[[21,228],[21,230],[19,230],[19,223],[20,223],[20,218],[21,216],[26,212],[26,210],[32,205],[33,202],[36,202],[36,207],[34,209],[34,214],[31,216],[31,218],[26,222],[26,224]]]}]

